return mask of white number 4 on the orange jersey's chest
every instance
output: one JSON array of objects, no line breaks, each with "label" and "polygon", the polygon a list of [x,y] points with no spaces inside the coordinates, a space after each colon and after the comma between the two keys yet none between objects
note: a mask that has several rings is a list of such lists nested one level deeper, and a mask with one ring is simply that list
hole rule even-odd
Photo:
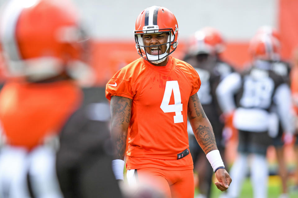
[{"label": "white number 4 on the orange jersey's chest", "polygon": [[[174,94],[174,105],[169,105],[170,98],[172,95],[172,90]],[[167,81],[165,84],[165,93],[164,97],[162,98],[162,102],[160,105],[160,109],[163,110],[165,113],[175,112],[174,115],[174,123],[183,123],[183,116],[182,116],[182,103],[181,103],[181,95],[179,90],[179,85],[177,80]]]}]

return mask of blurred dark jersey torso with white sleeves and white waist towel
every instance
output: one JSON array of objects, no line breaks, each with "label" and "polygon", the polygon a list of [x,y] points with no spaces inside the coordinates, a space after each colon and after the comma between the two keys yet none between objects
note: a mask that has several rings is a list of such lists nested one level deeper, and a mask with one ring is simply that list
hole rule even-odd
[{"label": "blurred dark jersey torso with white sleeves and white waist towel", "polygon": [[[278,115],[285,131],[292,131],[291,92],[284,76],[273,71],[271,64],[251,67],[242,74],[232,73],[218,86],[216,93],[224,113],[235,110],[233,124],[243,131],[278,132]],[[235,100],[236,99],[236,100]],[[276,105],[277,114],[270,112]]]}]

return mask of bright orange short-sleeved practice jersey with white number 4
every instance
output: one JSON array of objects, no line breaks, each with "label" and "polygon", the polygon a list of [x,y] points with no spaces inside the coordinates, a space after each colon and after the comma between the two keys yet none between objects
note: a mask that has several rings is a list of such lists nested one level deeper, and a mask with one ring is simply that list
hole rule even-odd
[{"label": "bright orange short-sleeved practice jersey with white number 4", "polygon": [[188,149],[187,103],[200,88],[197,72],[169,56],[166,66],[139,58],[120,69],[106,84],[106,98],[133,99],[129,124],[127,169],[193,168],[192,157],[178,159]]}]

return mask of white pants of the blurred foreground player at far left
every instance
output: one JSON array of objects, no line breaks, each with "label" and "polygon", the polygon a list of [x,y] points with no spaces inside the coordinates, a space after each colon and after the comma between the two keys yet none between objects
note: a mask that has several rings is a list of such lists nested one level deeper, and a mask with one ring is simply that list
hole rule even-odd
[{"label": "white pants of the blurred foreground player at far left", "polygon": [[0,151],[0,197],[29,198],[27,173],[34,196],[62,198],[56,176],[55,151],[40,146],[27,152],[19,147],[5,146]]}]

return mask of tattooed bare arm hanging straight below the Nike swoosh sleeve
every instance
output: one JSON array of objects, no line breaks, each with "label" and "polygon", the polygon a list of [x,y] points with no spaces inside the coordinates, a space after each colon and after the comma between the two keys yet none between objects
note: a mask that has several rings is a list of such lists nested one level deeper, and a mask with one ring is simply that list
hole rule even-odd
[{"label": "tattooed bare arm hanging straight below the Nike swoosh sleeve", "polygon": [[124,160],[131,105],[132,99],[121,96],[111,97],[111,132],[115,146],[115,159]]}]

